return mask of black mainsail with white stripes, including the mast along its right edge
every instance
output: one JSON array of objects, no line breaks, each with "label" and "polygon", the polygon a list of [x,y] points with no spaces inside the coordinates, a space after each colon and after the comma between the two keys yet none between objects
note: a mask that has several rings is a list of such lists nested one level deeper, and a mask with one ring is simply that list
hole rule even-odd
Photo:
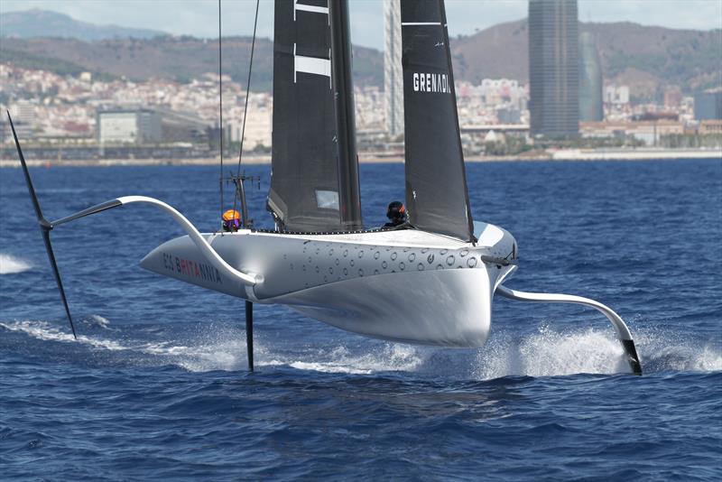
[{"label": "black mainsail with white stripes, including the mast along its right edge", "polygon": [[282,229],[362,227],[347,22],[345,1],[275,2],[268,209]]}]

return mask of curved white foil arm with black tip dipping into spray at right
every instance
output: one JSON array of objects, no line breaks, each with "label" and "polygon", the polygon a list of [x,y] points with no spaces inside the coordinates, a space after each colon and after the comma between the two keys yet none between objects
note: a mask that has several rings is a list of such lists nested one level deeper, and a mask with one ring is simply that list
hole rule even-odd
[{"label": "curved white foil arm with black tip dipping into spray at right", "polygon": [[511,290],[502,285],[496,288],[496,292],[508,298],[510,300],[517,301],[535,301],[535,302],[551,302],[551,303],[574,303],[582,304],[585,306],[591,306],[597,311],[603,313],[606,318],[612,322],[616,329],[617,338],[622,342],[622,347],[625,348],[625,355],[629,366],[632,367],[634,375],[642,375],[642,365],[637,355],[637,350],[634,347],[634,339],[632,339],[632,333],[629,332],[625,321],[616,314],[614,310],[600,303],[599,301],[590,300],[581,296],[574,296],[571,294],[559,294],[559,293],[545,293],[545,292],[519,292],[517,290]]}]

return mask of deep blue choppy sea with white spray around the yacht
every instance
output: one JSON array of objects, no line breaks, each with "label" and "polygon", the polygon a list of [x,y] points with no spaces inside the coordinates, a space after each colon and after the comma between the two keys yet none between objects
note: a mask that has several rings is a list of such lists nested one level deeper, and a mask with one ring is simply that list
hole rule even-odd
[{"label": "deep blue choppy sea with white spray around the yacht", "polygon": [[[269,227],[270,170],[246,172]],[[48,218],[139,194],[218,226],[218,167],[32,176]],[[467,178],[474,217],[518,241],[505,285],[608,304],[643,376],[597,311],[504,299],[477,349],[256,305],[250,374],[243,301],[138,266],[182,234],[139,205],[52,232],[74,341],[22,171],[4,169],[0,479],[722,479],[722,162],[472,163]],[[363,165],[361,181],[378,226],[403,165]]]}]

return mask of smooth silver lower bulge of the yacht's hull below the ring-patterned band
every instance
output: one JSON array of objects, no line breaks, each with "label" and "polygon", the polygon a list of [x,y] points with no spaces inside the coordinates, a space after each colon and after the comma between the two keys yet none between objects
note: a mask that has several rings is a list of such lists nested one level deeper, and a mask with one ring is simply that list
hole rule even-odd
[{"label": "smooth silver lower bulge of the yacht's hull below the ring-patterned band", "polygon": [[481,347],[491,328],[492,283],[503,273],[509,271],[486,267],[379,274],[301,290],[273,302],[369,337]]}]

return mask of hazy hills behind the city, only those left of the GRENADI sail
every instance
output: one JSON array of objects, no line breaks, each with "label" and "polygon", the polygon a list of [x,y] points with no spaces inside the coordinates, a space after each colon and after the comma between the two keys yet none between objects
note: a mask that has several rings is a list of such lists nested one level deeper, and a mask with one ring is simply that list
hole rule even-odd
[{"label": "hazy hills behind the city, only those left of the GRENADI sail", "polygon": [[[251,54],[250,37],[223,38],[223,72],[245,84]],[[105,77],[174,79],[186,82],[218,72],[218,42],[194,37],[156,37],[82,42],[76,39],[3,39],[0,62],[21,67],[78,74],[84,70]],[[358,85],[383,85],[384,58],[373,49],[354,48],[354,79]],[[256,39],[253,85],[271,88],[273,42]]]}]

